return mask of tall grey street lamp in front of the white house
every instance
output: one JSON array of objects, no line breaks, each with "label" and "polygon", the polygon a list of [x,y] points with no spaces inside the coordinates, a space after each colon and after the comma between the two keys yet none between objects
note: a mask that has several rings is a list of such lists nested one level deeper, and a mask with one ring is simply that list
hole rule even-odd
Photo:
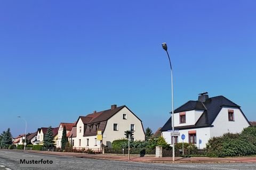
[{"label": "tall grey street lamp in front of the white house", "polygon": [[[170,63],[170,67],[171,67],[171,84],[172,84],[172,132],[174,132],[174,112],[173,112],[173,83],[172,83],[172,64],[171,64],[171,60],[170,60],[170,56],[169,53],[167,51],[167,44],[166,43],[162,43],[162,47],[163,49],[166,51],[167,56],[169,58],[169,63]],[[174,136],[171,136],[171,140],[172,140],[172,161],[175,161],[175,152],[174,152]]]}]

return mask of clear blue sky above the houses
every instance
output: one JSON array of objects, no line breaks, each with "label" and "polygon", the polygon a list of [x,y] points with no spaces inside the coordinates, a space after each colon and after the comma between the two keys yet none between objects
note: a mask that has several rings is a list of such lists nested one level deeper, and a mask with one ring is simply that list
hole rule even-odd
[{"label": "clear blue sky above the houses", "polygon": [[255,121],[255,1],[2,1],[0,132],[126,105],[153,131],[199,93]]}]

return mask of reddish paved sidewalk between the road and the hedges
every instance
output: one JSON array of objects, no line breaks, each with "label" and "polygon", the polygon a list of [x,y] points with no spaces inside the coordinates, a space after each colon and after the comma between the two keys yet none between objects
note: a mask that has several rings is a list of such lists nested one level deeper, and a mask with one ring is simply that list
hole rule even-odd
[{"label": "reddish paved sidewalk between the road and the hedges", "polygon": [[209,157],[175,157],[175,162],[172,161],[172,157],[156,158],[156,157],[135,157],[131,156],[128,160],[128,156],[119,155],[102,155],[102,154],[80,154],[73,152],[52,152],[52,151],[37,151],[28,150],[27,152],[33,152],[38,154],[58,155],[58,156],[73,156],[79,158],[90,159],[105,159],[105,160],[118,160],[124,162],[143,162],[143,163],[256,163],[256,157],[227,157],[227,158],[209,158]]}]

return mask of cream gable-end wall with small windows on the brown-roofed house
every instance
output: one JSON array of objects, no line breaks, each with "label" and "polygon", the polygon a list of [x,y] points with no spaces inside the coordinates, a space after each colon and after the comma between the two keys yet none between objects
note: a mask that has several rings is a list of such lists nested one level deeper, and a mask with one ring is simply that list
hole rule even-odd
[{"label": "cream gable-end wall with small windows on the brown-roofed house", "polygon": [[[123,114],[127,115],[127,119],[123,120]],[[118,124],[118,131],[113,130],[113,124]],[[111,147],[111,142],[117,139],[125,138],[124,132],[130,130],[130,125],[134,124],[134,139],[135,140],[145,140],[145,133],[143,131],[141,121],[134,116],[129,109],[126,107],[122,108],[121,111],[116,113],[111,117],[106,125],[106,129],[103,132],[102,142],[104,145]]]}]

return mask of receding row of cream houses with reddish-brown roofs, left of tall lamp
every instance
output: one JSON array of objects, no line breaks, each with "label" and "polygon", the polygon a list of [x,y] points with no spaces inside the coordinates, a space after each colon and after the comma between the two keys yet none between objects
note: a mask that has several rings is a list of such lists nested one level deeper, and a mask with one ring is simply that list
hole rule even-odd
[{"label": "receding row of cream houses with reddish-brown roofs, left of tall lamp", "polygon": [[[86,116],[79,116],[74,123],[60,123],[52,128],[55,146],[61,147],[63,128],[66,127],[68,141],[74,148],[97,149],[102,145],[111,147],[114,140],[125,138],[124,132],[133,131],[133,140],[145,140],[142,121],[127,106],[111,105],[105,111],[94,111]],[[27,145],[43,145],[48,128],[38,128],[37,132],[27,134]],[[101,132],[102,140],[97,139]],[[14,145],[22,145],[25,134],[14,139]]]}]

